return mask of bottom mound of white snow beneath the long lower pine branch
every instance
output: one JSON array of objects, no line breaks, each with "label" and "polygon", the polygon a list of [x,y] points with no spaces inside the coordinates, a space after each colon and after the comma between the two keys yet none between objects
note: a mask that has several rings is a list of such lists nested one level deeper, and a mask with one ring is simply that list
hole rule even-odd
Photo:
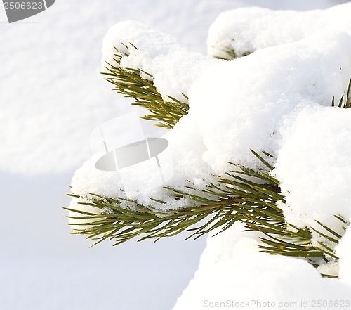
[{"label": "bottom mound of white snow beneath the long lower pine branch", "polygon": [[313,309],[313,300],[348,300],[350,286],[322,278],[307,261],[258,252],[255,236],[240,228],[237,223],[208,238],[199,269],[173,310],[232,309],[236,303],[237,309],[279,308],[280,303],[280,308]]}]

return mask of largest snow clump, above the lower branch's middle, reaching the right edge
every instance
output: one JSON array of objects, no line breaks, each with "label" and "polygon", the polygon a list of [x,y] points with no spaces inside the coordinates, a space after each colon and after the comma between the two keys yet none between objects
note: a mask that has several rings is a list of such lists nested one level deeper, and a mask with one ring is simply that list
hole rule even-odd
[{"label": "largest snow clump, above the lower branch's middle, reaching the right edge", "polygon": [[298,105],[331,105],[333,96],[341,97],[351,77],[350,49],[349,34],[328,30],[218,60],[190,91],[190,113],[207,148],[204,160],[220,172],[227,160],[254,167],[250,148],[275,154],[284,115]]}]

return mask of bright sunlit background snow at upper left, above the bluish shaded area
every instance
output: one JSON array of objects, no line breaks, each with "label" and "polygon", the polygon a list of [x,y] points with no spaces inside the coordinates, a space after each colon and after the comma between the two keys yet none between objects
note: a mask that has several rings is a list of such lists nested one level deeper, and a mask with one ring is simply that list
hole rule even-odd
[{"label": "bright sunlit background snow at upper left, above the bluish shaded area", "polygon": [[[346,0],[56,1],[44,13],[6,25],[0,10],[0,169],[57,174],[90,156],[88,136],[101,122],[129,111],[100,72],[109,27],[138,20],[206,53],[208,27],[220,12],[243,6],[308,10]],[[29,22],[29,23],[27,23]],[[77,86],[77,81],[79,86]]]}]

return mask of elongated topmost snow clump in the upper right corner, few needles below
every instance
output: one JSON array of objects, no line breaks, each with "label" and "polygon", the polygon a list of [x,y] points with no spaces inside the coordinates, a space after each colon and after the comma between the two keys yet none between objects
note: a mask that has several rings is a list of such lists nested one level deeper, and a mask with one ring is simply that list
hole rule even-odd
[{"label": "elongated topmost snow clump in the upper right corner, few needles below", "polygon": [[234,50],[239,57],[330,29],[351,34],[350,9],[351,3],[305,12],[258,7],[226,11],[210,27],[208,55],[230,59],[225,49]]}]

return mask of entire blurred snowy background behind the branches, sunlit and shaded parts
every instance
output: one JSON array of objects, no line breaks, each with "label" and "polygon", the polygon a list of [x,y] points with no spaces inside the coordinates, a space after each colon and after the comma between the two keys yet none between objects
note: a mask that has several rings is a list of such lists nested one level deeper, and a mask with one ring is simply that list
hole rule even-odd
[{"label": "entire blurred snowy background behind the branches, sunlit and shaded parts", "polygon": [[205,239],[111,243],[70,236],[65,193],[98,124],[129,110],[98,74],[102,38],[139,20],[206,53],[208,27],[240,6],[327,8],[347,1],[74,1],[9,25],[0,8],[1,309],[171,309]]}]

